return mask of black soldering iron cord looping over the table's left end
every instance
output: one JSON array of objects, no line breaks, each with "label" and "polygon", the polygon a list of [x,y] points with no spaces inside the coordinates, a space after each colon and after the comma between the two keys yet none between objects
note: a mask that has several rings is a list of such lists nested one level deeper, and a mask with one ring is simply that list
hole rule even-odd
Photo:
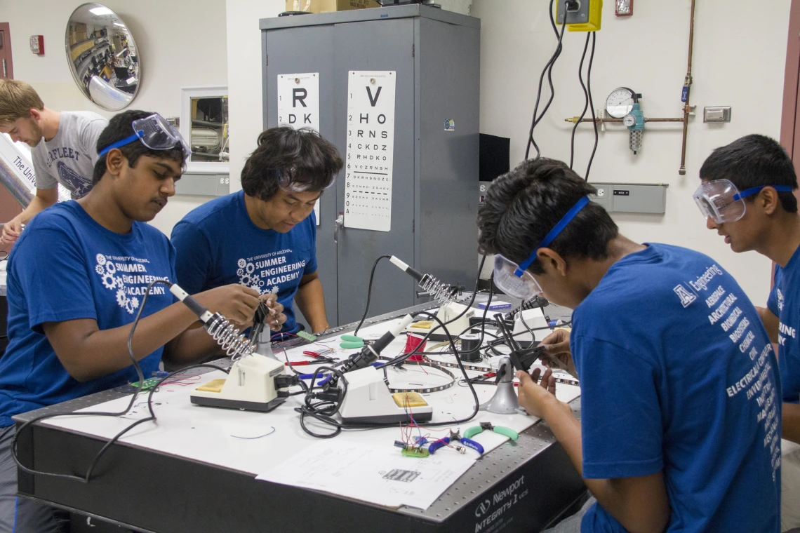
[{"label": "black soldering iron cord looping over the table's left end", "polygon": [[[137,420],[136,422],[134,422],[134,424],[130,424],[130,426],[128,426],[127,428],[122,430],[122,432],[119,432],[116,436],[114,436],[113,439],[111,439],[108,443],[106,443],[106,445],[104,447],[102,447],[102,449],[98,452],[98,455],[95,455],[94,461],[92,462],[91,466],[89,467],[89,470],[86,471],[86,475],[84,475],[84,476],[71,475],[71,474],[55,474],[53,472],[45,472],[45,471],[33,470],[31,468],[26,467],[24,464],[22,464],[19,461],[19,457],[18,457],[18,454],[17,454],[17,443],[18,443],[20,434],[23,431],[25,431],[26,428],[29,428],[31,424],[39,422],[40,420],[46,420],[48,418],[54,418],[56,416],[123,416],[123,415],[126,415],[128,412],[130,412],[130,409],[134,407],[134,403],[136,401],[136,398],[138,397],[139,393],[142,392],[142,385],[144,384],[144,381],[145,381],[144,375],[142,374],[142,367],[139,366],[139,362],[138,362],[138,360],[136,360],[136,356],[134,356],[134,348],[133,348],[134,332],[136,331],[136,326],[138,325],[139,320],[142,318],[142,311],[144,310],[145,304],[147,303],[147,296],[150,295],[150,288],[153,288],[153,286],[155,284],[158,284],[158,283],[165,284],[167,287],[171,287],[172,286],[172,284],[169,281],[166,281],[166,280],[154,280],[149,285],[147,285],[147,289],[145,291],[145,295],[142,296],[142,304],[139,306],[139,310],[136,312],[136,317],[134,318],[134,322],[130,326],[130,333],[128,333],[128,356],[130,357],[130,360],[133,361],[134,368],[136,370],[136,375],[139,378],[138,386],[136,388],[136,392],[134,392],[134,395],[130,397],[130,403],[128,404],[128,407],[126,407],[125,410],[122,411],[122,412],[94,412],[94,411],[89,411],[89,412],[71,412],[71,411],[70,412],[54,412],[54,413],[48,413],[48,414],[42,415],[42,416],[36,416],[35,418],[33,418],[31,420],[28,420],[25,424],[22,424],[22,426],[20,426],[18,428],[17,432],[14,433],[14,439],[11,440],[11,458],[14,459],[14,463],[17,463],[17,466],[19,467],[20,470],[22,470],[22,471],[24,471],[24,472],[26,472],[28,474],[31,474],[31,475],[46,475],[46,476],[55,477],[55,478],[72,479],[74,481],[79,481],[81,483],[89,483],[89,481],[91,479],[92,471],[94,471],[94,467],[97,465],[98,461],[100,460],[102,455],[106,452],[108,447],[110,447],[111,444],[114,444],[114,442],[116,442],[121,436],[125,435],[126,432],[130,431],[130,429],[134,428],[138,424],[142,424],[142,422],[145,421],[145,420],[150,420],[150,419]],[[152,409],[150,410],[150,412],[152,414]]]}]

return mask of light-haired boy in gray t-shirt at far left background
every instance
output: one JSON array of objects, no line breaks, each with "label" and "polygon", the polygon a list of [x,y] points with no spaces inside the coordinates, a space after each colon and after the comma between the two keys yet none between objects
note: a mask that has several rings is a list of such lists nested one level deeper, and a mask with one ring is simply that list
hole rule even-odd
[{"label": "light-haired boy in gray t-shirt at far left background", "polygon": [[0,79],[0,133],[33,148],[36,173],[36,196],[6,222],[0,244],[14,243],[22,225],[58,201],[58,184],[75,200],[89,192],[98,158],[97,140],[106,125],[105,118],[90,111],[48,109],[26,82]]}]

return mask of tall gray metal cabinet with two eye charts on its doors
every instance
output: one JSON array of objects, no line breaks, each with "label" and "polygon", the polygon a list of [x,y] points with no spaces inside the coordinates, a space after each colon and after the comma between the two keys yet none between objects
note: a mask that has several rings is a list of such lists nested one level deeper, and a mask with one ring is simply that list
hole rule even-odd
[{"label": "tall gray metal cabinet with two eye charts on its doors", "polygon": [[[411,5],[265,18],[260,28],[265,128],[278,125],[278,75],[319,73],[320,133],[342,157],[348,73],[397,73],[391,231],[335,232],[346,201],[344,171],[335,193],[320,201],[317,258],[330,324],[358,320],[370,269],[384,254],[446,283],[470,285],[478,267],[480,21]],[[388,262],[375,278],[370,315],[424,301]]]}]

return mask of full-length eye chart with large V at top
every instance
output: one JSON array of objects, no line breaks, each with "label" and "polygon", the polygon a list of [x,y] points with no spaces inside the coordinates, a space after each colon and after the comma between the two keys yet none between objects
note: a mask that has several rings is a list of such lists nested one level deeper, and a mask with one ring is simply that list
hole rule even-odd
[{"label": "full-length eye chart with large V at top", "polygon": [[351,70],[347,84],[345,227],[390,231],[394,70]]}]

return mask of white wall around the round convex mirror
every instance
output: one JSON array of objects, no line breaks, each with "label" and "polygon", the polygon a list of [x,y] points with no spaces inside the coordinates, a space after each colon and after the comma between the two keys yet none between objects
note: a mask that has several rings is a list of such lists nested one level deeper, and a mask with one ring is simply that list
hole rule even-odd
[{"label": "white wall around the round convex mirror", "polygon": [[[14,78],[34,86],[52,109],[86,109],[106,117],[75,86],[64,50],[66,24],[81,0],[0,2],[0,22],[9,22]],[[126,22],[142,64],[142,87],[130,109],[180,114],[182,86],[227,84],[225,0],[102,0]],[[45,54],[31,54],[28,38],[44,35]],[[183,215],[210,197],[181,195],[170,199],[153,225],[167,235]]]}]

